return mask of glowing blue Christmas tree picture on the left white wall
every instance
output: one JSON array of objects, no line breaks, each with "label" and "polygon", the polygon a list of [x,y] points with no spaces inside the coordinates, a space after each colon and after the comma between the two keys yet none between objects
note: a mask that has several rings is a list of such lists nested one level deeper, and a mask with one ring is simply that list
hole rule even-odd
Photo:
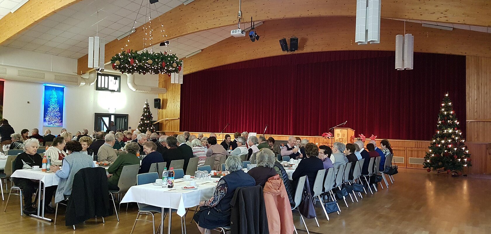
[{"label": "glowing blue Christmas tree picture on the left white wall", "polygon": [[44,86],[43,126],[63,126],[64,86]]}]

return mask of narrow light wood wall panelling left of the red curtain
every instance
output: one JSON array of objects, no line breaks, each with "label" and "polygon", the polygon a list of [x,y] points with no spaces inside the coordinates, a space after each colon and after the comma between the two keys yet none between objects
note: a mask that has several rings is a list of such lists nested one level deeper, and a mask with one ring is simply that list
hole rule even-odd
[{"label": "narrow light wood wall panelling left of the red curtain", "polygon": [[167,88],[167,93],[159,94],[162,101],[162,109],[159,110],[160,129],[169,131],[179,131],[179,116],[181,107],[181,86],[171,84],[167,75],[159,75],[159,87]]}]

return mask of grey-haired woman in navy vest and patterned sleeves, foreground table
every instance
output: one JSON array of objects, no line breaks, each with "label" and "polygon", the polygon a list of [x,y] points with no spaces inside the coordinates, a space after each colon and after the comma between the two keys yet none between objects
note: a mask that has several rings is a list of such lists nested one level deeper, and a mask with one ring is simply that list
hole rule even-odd
[{"label": "grey-haired woman in navy vest and patterned sleeves, foreground table", "polygon": [[230,174],[218,180],[213,197],[208,201],[201,202],[200,205],[203,206],[200,207],[199,211],[193,217],[201,234],[205,233],[205,229],[230,226],[230,209],[232,208],[230,202],[234,197],[235,189],[254,186],[256,184],[252,176],[242,171],[240,157],[228,157],[225,161],[225,168]]}]

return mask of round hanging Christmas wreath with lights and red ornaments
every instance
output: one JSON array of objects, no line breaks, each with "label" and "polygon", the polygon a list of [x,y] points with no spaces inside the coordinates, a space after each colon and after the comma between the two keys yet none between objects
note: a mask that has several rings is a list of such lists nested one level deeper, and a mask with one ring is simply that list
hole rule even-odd
[{"label": "round hanging Christmas wreath with lights and red ornaments", "polygon": [[175,54],[143,51],[123,51],[111,58],[112,69],[129,74],[167,74],[179,73],[183,61]]}]

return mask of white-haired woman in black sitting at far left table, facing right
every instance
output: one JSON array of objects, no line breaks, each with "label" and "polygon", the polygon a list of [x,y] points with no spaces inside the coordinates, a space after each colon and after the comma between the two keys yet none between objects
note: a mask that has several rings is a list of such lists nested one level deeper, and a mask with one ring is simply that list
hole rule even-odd
[{"label": "white-haired woman in black sitting at far left table, facing right", "polygon": [[[43,164],[43,158],[37,152],[37,148],[39,147],[39,141],[37,139],[28,139],[24,142],[24,150],[25,152],[17,155],[17,158],[14,161],[12,170],[15,172],[16,170],[22,169],[32,169],[34,166],[41,167]],[[32,194],[36,192],[36,189],[39,186],[37,181],[32,181],[27,178],[12,178],[14,184],[16,186],[22,187],[22,194],[24,196],[24,209],[23,212],[27,215],[37,213],[37,208],[34,208],[32,205]],[[46,187],[44,190],[45,193],[45,201],[44,201],[44,211],[47,213],[55,213],[55,209],[53,209],[49,204],[51,203],[51,198],[53,197],[53,193],[56,190],[56,186]]]}]

